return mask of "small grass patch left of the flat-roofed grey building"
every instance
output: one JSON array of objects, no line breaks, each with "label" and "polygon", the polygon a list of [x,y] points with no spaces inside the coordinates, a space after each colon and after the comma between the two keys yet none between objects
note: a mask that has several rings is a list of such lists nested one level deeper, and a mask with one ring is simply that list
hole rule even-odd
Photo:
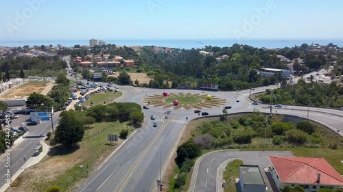
[{"label": "small grass patch left of the flat-roofed grey building", "polygon": [[239,165],[243,165],[243,161],[237,159],[226,165],[223,176],[227,185],[224,187],[224,192],[237,192],[235,179],[239,178]]}]

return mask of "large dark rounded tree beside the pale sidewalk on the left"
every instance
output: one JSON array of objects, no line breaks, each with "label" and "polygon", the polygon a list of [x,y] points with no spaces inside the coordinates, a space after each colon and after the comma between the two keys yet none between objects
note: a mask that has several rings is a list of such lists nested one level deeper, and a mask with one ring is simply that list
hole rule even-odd
[{"label": "large dark rounded tree beside the pale sidewalk on the left", "polygon": [[73,111],[63,111],[60,117],[54,139],[56,143],[71,148],[84,137],[84,126]]}]

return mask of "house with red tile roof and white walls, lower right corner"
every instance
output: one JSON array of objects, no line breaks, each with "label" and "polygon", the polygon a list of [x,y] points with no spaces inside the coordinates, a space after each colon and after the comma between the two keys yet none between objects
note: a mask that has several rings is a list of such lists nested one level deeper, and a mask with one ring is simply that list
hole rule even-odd
[{"label": "house with red tile roof and white walls, lower right corner", "polygon": [[306,192],[320,188],[340,189],[343,178],[323,158],[269,156],[272,178],[280,190],[300,185]]}]

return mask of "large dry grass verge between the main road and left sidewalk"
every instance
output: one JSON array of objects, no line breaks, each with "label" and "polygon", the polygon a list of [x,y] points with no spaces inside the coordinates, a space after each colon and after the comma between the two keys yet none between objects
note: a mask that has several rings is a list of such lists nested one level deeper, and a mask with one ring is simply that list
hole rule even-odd
[{"label": "large dry grass verge between the main road and left sidewalk", "polygon": [[[107,145],[108,134],[117,134],[122,128],[130,127],[126,122],[120,123],[117,122],[100,122],[91,125],[93,128],[88,129],[84,133],[84,138],[79,143],[80,148],[75,150],[75,152],[56,154],[54,156],[49,156],[43,163],[51,164],[52,161],[60,163],[60,160],[67,161],[69,165],[62,165],[65,167],[70,167],[69,169],[60,170],[60,172],[55,173],[56,176],[54,180],[46,179],[37,179],[36,182],[30,182],[29,188],[32,188],[32,191],[44,191],[48,187],[58,186],[61,188],[61,191],[70,191],[71,187],[76,183],[80,182],[86,178],[85,170],[91,171],[93,165],[97,165],[100,159],[104,160],[113,150],[115,146]],[[60,150],[58,150],[60,152]],[[78,158],[78,162],[73,161],[75,158]],[[94,164],[93,164],[94,163]],[[84,166],[82,174],[80,173],[80,165]],[[44,166],[44,164],[43,164]],[[54,165],[52,165],[54,166]],[[46,169],[51,167],[47,166]],[[51,173],[54,174],[54,173]],[[29,181],[27,181],[29,182]],[[31,191],[25,188],[25,191]]]}]

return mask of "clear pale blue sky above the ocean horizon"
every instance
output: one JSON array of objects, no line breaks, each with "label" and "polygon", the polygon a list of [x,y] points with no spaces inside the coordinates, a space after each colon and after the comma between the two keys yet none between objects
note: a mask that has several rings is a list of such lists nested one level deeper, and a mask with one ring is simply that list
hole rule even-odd
[{"label": "clear pale blue sky above the ocean horizon", "polygon": [[342,0],[3,0],[0,8],[0,40],[343,39]]}]

